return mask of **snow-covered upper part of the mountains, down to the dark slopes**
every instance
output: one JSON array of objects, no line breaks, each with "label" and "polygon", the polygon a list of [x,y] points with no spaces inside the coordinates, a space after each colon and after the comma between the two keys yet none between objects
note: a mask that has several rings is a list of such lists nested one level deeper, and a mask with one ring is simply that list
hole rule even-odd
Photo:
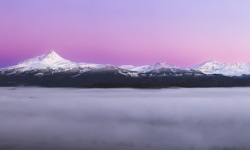
[{"label": "snow-covered upper part of the mountains, down to the dark slopes", "polygon": [[[196,65],[191,68],[179,68],[174,65],[169,65],[166,62],[156,63],[154,65],[122,65],[119,67],[106,65],[106,64],[94,64],[94,63],[76,63],[59,56],[55,51],[50,51],[47,54],[37,56],[32,59],[25,60],[15,66],[1,69],[2,72],[9,72],[9,74],[15,74],[16,72],[34,71],[34,70],[54,70],[57,72],[79,70],[80,73],[96,70],[96,69],[113,69],[117,70],[120,74],[129,76],[138,76],[139,74],[163,74],[168,72],[168,75],[183,75],[185,73],[191,73],[196,71],[204,74],[222,74],[225,76],[242,76],[250,75],[250,63],[233,63],[226,64],[216,61],[207,61],[202,64]],[[166,75],[167,75],[166,74]]]}]

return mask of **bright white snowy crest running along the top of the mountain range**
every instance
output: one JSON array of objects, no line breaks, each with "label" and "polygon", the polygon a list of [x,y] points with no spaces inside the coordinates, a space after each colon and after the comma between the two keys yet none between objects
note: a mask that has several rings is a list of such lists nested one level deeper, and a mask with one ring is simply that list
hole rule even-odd
[{"label": "bright white snowy crest running along the top of the mountain range", "polygon": [[52,50],[41,56],[37,56],[31,59],[27,59],[17,65],[1,68],[0,70],[16,69],[21,72],[29,71],[32,69],[73,69],[73,68],[88,68],[88,69],[100,69],[103,67],[112,66],[115,68],[128,70],[137,73],[148,73],[151,71],[157,71],[160,69],[180,69],[180,70],[196,70],[204,74],[221,74],[225,76],[242,76],[250,74],[250,63],[231,63],[226,64],[217,62],[215,60],[205,61],[201,64],[189,67],[181,68],[175,65],[170,65],[166,62],[158,62],[153,65],[108,65],[108,64],[95,64],[95,63],[77,63],[71,62],[70,60],[62,58],[59,54]]}]

